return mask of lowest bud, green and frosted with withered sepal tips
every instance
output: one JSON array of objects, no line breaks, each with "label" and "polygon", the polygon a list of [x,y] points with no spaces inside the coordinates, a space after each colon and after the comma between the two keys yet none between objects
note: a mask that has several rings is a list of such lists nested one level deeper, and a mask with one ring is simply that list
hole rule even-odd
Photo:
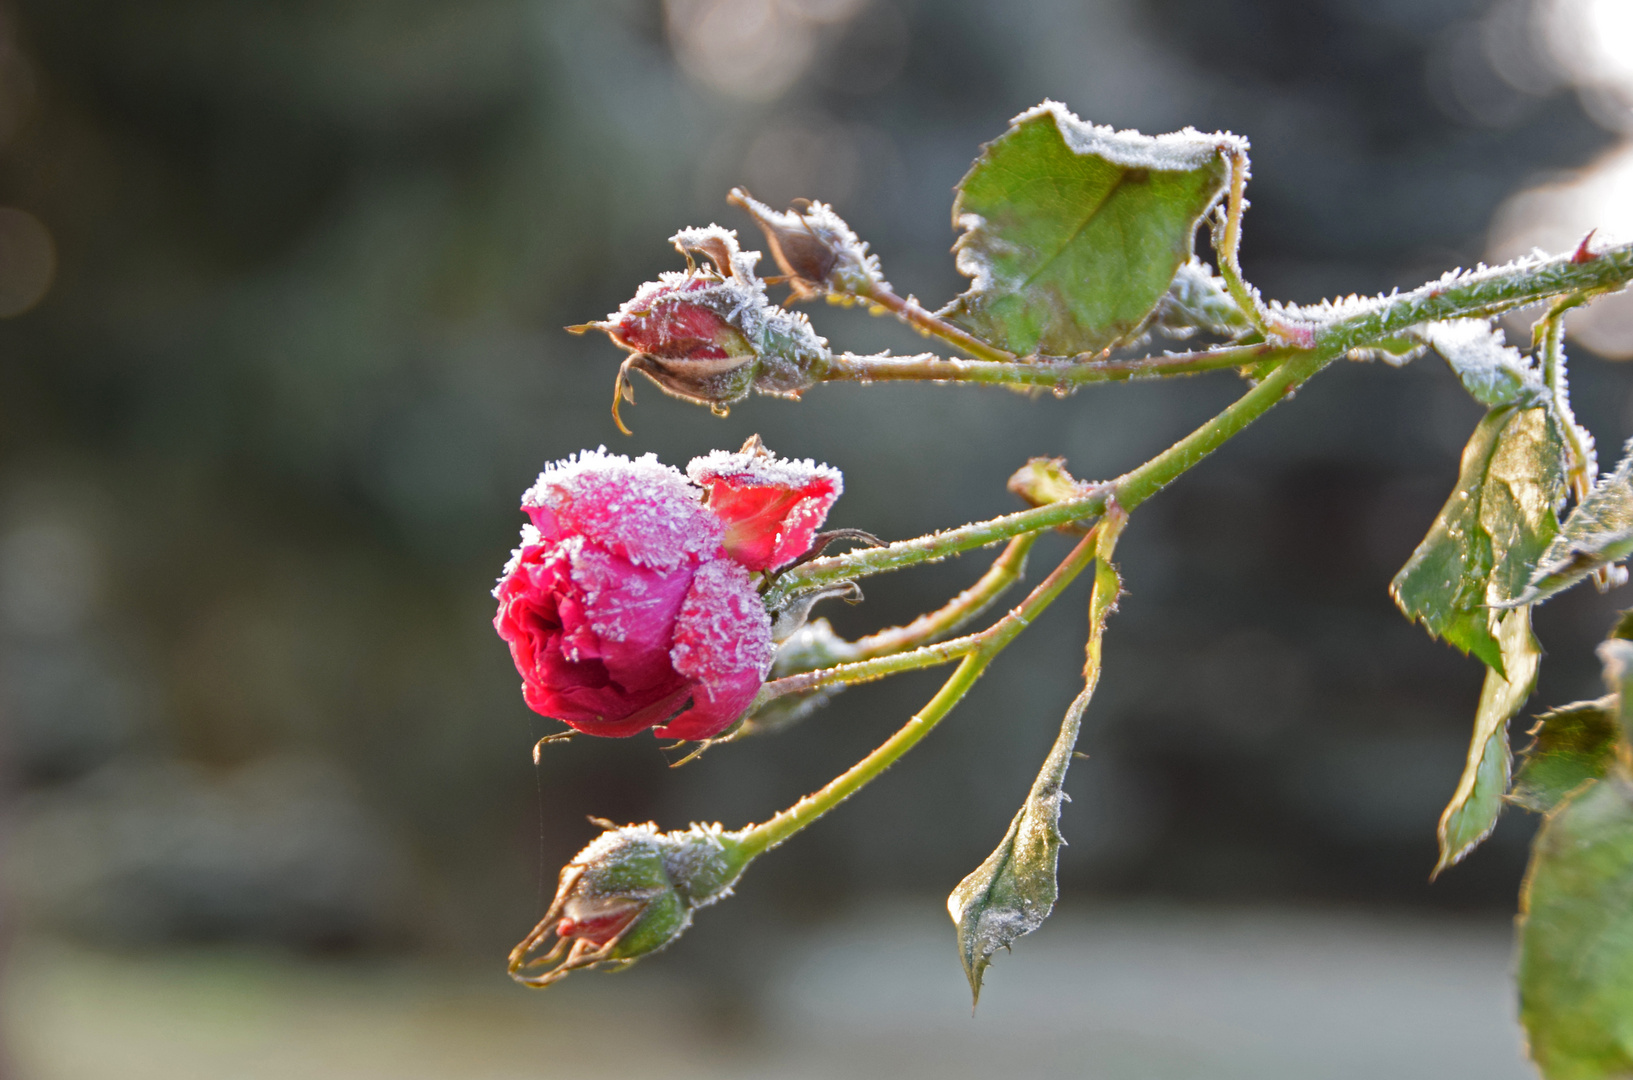
[{"label": "lowest bud, green and frosted with withered sepal tips", "polygon": [[609,825],[562,868],[550,910],[511,949],[511,979],[547,987],[580,967],[627,967],[681,936],[692,912],[728,895],[748,861],[719,825],[676,833]]}]

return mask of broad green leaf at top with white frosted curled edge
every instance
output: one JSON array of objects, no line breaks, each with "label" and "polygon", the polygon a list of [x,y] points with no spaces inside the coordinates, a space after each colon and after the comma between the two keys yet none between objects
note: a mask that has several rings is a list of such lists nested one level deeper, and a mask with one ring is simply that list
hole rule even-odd
[{"label": "broad green leaf at top with white frosted curled edge", "polygon": [[1236,136],[1141,136],[1045,101],[981,147],[959,183],[959,271],[942,315],[1016,355],[1092,353],[1140,332],[1190,258]]}]

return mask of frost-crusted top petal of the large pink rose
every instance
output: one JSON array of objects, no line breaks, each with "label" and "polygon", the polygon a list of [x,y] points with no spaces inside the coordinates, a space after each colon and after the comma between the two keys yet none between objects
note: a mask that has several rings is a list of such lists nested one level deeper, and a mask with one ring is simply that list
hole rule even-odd
[{"label": "frost-crusted top petal of the large pink rose", "polygon": [[668,570],[705,559],[720,544],[720,524],[697,503],[697,490],[655,454],[583,451],[544,467],[521,497],[544,541],[585,536],[643,567]]}]

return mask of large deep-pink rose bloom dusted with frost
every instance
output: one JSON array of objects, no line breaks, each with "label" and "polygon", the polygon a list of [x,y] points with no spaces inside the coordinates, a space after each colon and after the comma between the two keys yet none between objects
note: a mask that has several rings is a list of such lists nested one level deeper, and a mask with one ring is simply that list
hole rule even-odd
[{"label": "large deep-pink rose bloom dusted with frost", "polygon": [[570,727],[709,739],[750,706],[771,618],[678,471],[604,451],[547,466],[493,595],[527,706]]}]

